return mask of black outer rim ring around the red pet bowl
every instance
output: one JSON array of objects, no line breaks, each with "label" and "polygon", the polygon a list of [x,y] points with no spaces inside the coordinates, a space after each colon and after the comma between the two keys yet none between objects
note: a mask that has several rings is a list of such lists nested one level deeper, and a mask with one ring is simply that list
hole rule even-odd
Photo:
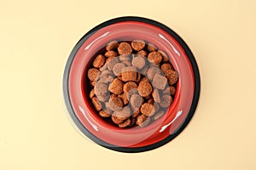
[{"label": "black outer rim ring around the red pet bowl", "polygon": [[[73,106],[72,106],[71,100],[69,98],[69,91],[68,91],[68,78],[69,78],[70,67],[73,63],[73,59],[74,59],[75,55],[77,54],[79,48],[83,45],[83,43],[95,31],[100,30],[105,26],[113,25],[115,23],[124,22],[124,21],[144,22],[144,23],[147,23],[149,25],[157,26],[157,27],[161,28],[162,30],[166,31],[167,33],[169,33],[172,37],[174,37],[176,39],[176,41],[184,49],[185,53],[187,54],[187,56],[189,58],[190,64],[192,65],[192,69],[194,71],[194,76],[195,76],[195,93],[194,93],[194,96],[193,96],[193,100],[192,100],[192,104],[191,104],[191,107],[190,107],[190,110],[189,110],[189,114],[186,117],[186,119],[183,121],[183,124],[180,127],[177,128],[176,132],[174,132],[174,133],[170,134],[168,137],[166,137],[166,139],[160,140],[159,142],[154,143],[154,144],[149,144],[149,145],[146,145],[146,146],[136,147],[136,148],[120,147],[120,146],[117,146],[117,145],[108,144],[105,141],[103,141],[102,139],[98,139],[95,135],[90,133],[90,131],[87,130],[83,126],[83,124],[79,121],[79,118],[76,116],[75,112],[73,111]],[[66,106],[67,106],[67,111],[69,112],[71,118],[73,119],[73,122],[76,124],[77,127],[79,127],[79,130],[82,133],[84,133],[89,139],[94,141],[96,144],[100,144],[103,147],[108,148],[110,150],[116,150],[116,151],[127,152],[127,153],[136,153],[136,152],[154,150],[154,149],[156,149],[156,148],[158,148],[158,147],[160,147],[164,144],[167,144],[172,139],[176,138],[177,135],[183,131],[183,129],[188,125],[192,116],[195,113],[195,109],[196,109],[196,106],[198,104],[198,100],[199,100],[199,96],[200,96],[201,81],[200,81],[199,69],[198,69],[198,66],[196,64],[194,55],[192,54],[188,45],[183,41],[183,39],[181,37],[179,37],[177,35],[177,33],[175,31],[172,31],[172,29],[170,29],[169,27],[167,27],[167,26],[165,26],[165,25],[163,25],[160,22],[155,21],[155,20],[150,20],[150,19],[147,19],[147,18],[137,17],[137,16],[124,16],[124,17],[118,17],[118,18],[114,18],[112,20],[108,20],[108,21],[103,22],[102,24],[100,24],[100,25],[94,27],[93,29],[91,29],[90,31],[88,31],[84,35],[84,37],[82,37],[79,40],[79,42],[75,45],[71,54],[69,55],[69,58],[67,59],[67,64],[66,64],[66,67],[65,67],[64,75],[63,75],[63,84],[62,84],[62,86],[63,86],[62,88],[63,88],[64,100],[65,100],[65,103],[66,103]]]}]

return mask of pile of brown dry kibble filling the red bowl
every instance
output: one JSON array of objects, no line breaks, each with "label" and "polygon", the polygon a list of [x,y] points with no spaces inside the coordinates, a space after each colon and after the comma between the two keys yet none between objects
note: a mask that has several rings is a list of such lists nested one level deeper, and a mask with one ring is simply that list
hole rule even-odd
[{"label": "pile of brown dry kibble filling the red bowl", "polygon": [[119,127],[145,127],[163,116],[178,80],[166,53],[143,40],[109,42],[87,77],[96,112]]}]

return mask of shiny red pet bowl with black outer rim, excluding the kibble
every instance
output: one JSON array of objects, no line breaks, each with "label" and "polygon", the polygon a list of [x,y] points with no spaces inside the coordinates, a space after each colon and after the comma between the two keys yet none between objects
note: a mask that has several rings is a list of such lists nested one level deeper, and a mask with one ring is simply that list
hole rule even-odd
[{"label": "shiny red pet bowl with black outer rim, excluding the kibble", "polygon": [[[121,129],[102,120],[88,97],[86,72],[96,52],[112,40],[143,39],[166,52],[178,72],[177,93],[166,114],[148,127]],[[67,60],[63,93],[73,122],[82,133],[111,150],[152,150],[174,139],[194,115],[200,94],[200,76],[195,58],[181,37],[154,20],[121,17],[108,20],[82,37]]]}]

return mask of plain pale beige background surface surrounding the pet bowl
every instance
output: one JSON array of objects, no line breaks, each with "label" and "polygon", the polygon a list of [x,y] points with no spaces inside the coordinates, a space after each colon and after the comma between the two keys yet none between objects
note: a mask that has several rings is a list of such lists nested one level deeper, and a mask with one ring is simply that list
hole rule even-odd
[{"label": "plain pale beige background surface surrounding the pet bowl", "polygon": [[[256,169],[255,8],[253,0],[0,0],[0,169]],[[124,15],[177,31],[201,71],[189,126],[169,144],[138,154],[84,139],[62,99],[75,43]]]}]

